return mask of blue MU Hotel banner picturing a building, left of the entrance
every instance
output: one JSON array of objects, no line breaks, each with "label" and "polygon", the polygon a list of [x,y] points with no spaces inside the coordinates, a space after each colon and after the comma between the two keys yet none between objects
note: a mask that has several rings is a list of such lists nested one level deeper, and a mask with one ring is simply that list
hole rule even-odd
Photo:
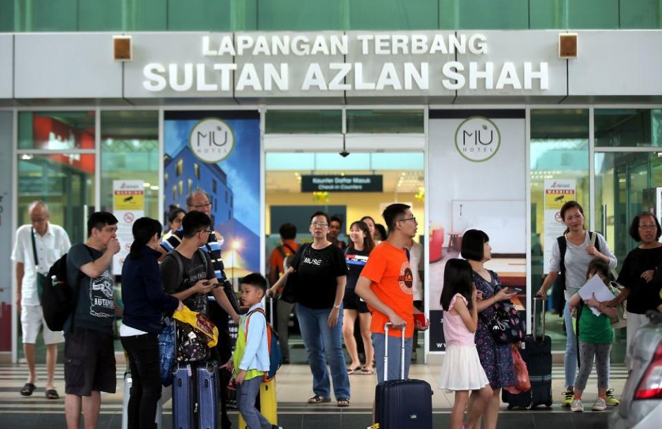
[{"label": "blue MU Hotel banner picturing a building, left of the entrance", "polygon": [[225,274],[260,271],[259,112],[165,112],[163,145],[165,213],[205,191]]}]

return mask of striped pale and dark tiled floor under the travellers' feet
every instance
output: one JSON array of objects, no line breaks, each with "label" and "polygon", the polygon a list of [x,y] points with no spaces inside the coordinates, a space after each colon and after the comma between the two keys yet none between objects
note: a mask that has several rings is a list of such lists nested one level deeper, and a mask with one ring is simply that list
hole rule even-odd
[{"label": "striped pale and dark tiled floor under the travellers' feet", "polygon": [[[123,368],[123,365],[119,365]],[[433,388],[439,373],[439,365],[417,364],[412,366],[410,377],[425,379]],[[39,366],[39,374],[45,376],[45,368]],[[63,399],[49,401],[43,397],[43,384],[37,383],[37,390],[32,397],[21,397],[18,393],[25,382],[27,370],[24,365],[0,366],[0,428],[66,428],[64,419]],[[121,427],[121,400],[123,392],[123,370],[117,371],[117,392],[114,395],[103,395],[103,405],[99,428]],[[612,386],[618,393],[625,382],[625,370],[622,366],[612,365]],[[43,379],[43,378],[42,378]],[[352,386],[352,405],[349,408],[338,408],[335,402],[322,405],[309,405],[306,400],[312,396],[310,370],[306,365],[285,365],[277,376],[277,397],[279,399],[279,425],[286,429],[345,429],[366,428],[371,421],[372,399],[375,375],[350,375]],[[554,366],[554,393],[558,394],[563,384],[563,368]],[[585,401],[591,403],[596,397],[596,380],[589,381],[585,393]],[[57,370],[56,387],[63,393],[63,370]],[[168,393],[165,393],[168,395]],[[554,398],[558,401],[558,397]],[[448,427],[450,408],[453,395],[434,389],[432,397],[434,428]],[[171,401],[167,399],[163,406],[163,427],[172,427]],[[230,416],[236,428],[237,414]],[[606,428],[608,412],[570,413],[568,410],[554,404],[552,408],[541,410],[503,410],[499,416],[499,428]]]}]

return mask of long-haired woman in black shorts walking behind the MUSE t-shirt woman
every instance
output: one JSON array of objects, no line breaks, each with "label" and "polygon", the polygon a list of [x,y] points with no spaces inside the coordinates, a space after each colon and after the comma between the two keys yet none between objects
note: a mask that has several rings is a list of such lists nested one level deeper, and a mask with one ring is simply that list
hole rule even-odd
[{"label": "long-haired woman in black shorts walking behind the MUSE t-shirt woman", "polygon": [[[361,370],[361,374],[372,374],[372,360],[374,359],[374,350],[372,348],[372,339],[370,339],[370,321],[372,315],[368,310],[368,305],[361,300],[355,293],[357,280],[361,275],[363,266],[368,262],[368,255],[374,249],[374,241],[370,236],[370,229],[365,222],[357,220],[350,226],[350,245],[345,251],[345,262],[347,262],[347,284],[345,285],[345,297],[343,297],[343,338],[347,352],[352,358],[352,363],[347,368],[348,374],[353,374]],[[359,316],[359,326],[361,326],[361,338],[363,339],[363,348],[365,349],[365,366],[361,367],[359,353],[357,352],[357,339],[354,337],[354,322]]]}]

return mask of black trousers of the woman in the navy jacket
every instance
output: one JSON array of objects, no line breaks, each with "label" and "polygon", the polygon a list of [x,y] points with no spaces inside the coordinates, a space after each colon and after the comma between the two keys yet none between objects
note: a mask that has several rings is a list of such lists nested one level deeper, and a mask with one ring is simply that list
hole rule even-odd
[{"label": "black trousers of the woman in the navy jacket", "polygon": [[156,428],[157,403],[161,398],[161,366],[156,334],[121,337],[129,356],[132,385],[128,405],[130,429]]}]

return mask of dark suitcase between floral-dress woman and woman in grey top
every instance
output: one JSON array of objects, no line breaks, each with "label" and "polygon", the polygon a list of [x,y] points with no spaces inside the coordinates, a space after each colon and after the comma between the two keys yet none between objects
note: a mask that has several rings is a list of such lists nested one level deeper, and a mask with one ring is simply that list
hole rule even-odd
[{"label": "dark suitcase between floral-dress woman and woman in grey top", "polygon": [[526,336],[520,350],[529,372],[531,389],[519,395],[503,390],[501,399],[508,404],[509,410],[514,407],[531,409],[539,405],[552,406],[552,339],[545,335],[545,300],[538,296],[533,299],[531,334]]}]

